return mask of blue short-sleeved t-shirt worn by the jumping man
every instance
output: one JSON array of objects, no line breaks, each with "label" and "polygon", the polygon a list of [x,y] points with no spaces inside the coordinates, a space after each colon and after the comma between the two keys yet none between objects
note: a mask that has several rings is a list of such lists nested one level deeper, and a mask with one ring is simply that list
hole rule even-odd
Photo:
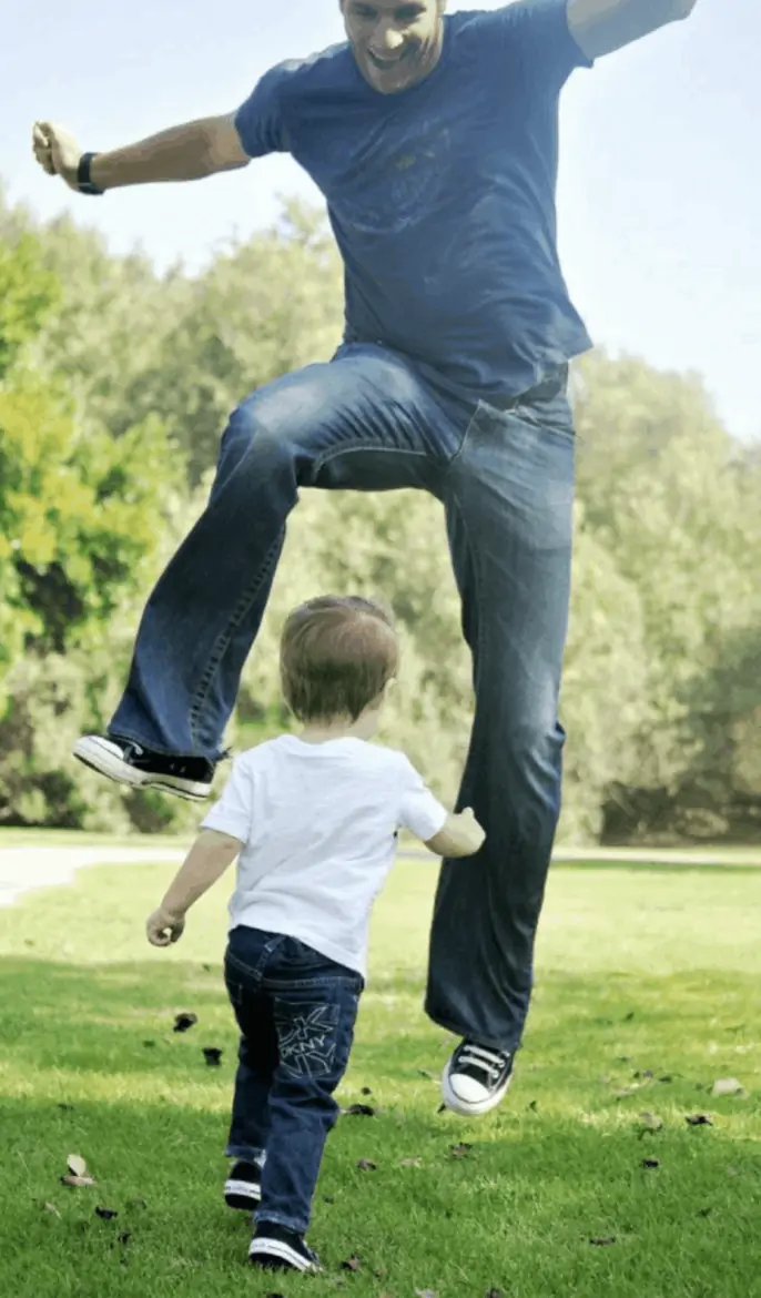
[{"label": "blue short-sleeved t-shirt worn by the jumping man", "polygon": [[261,78],[240,140],[249,157],[291,153],[325,195],[347,341],[487,401],[591,347],[556,244],[558,99],[578,66],[566,0],[519,0],[444,17],[436,67],[396,95],[348,44]]}]

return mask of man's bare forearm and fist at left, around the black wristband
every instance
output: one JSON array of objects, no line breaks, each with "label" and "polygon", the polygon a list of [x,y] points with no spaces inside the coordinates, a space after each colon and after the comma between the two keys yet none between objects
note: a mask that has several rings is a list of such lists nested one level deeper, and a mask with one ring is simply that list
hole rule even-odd
[{"label": "man's bare forearm and fist at left, around the black wristband", "polygon": [[[77,169],[82,149],[62,126],[35,122],[32,149],[48,175],[60,175],[77,190]],[[206,117],[152,135],[123,149],[99,153],[91,165],[91,179],[103,190],[127,184],[156,184],[166,180],[200,180],[218,171],[245,166],[245,153],[235,126],[235,113]]]}]

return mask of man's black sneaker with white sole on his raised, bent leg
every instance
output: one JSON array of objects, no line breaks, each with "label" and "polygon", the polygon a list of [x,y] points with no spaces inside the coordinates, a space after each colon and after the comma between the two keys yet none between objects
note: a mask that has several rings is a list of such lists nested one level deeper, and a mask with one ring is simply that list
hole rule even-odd
[{"label": "man's black sneaker with white sole on his raised, bent leg", "polygon": [[134,789],[161,789],[188,802],[203,802],[214,779],[214,763],[205,757],[152,753],[130,739],[84,735],[74,745],[74,757],[117,784],[130,784]]}]

